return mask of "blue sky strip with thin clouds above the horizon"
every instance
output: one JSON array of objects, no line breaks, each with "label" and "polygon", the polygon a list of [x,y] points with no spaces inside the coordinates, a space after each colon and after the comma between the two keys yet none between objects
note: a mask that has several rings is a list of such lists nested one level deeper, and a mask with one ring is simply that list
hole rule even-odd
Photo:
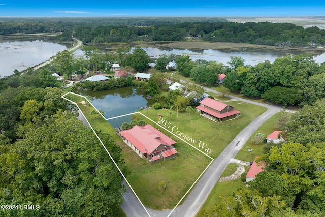
[{"label": "blue sky strip with thin clouds above the horizon", "polygon": [[0,17],[324,16],[325,1],[0,0]]}]

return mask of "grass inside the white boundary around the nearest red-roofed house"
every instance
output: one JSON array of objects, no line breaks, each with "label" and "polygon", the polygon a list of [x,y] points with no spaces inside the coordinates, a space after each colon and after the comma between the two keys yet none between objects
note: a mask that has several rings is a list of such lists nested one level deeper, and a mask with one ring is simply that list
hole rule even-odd
[{"label": "grass inside the white boundary around the nearest red-roofed house", "polygon": [[[149,208],[156,210],[174,208],[211,162],[211,159],[203,153],[200,153],[185,142],[182,142],[177,137],[170,135],[164,129],[160,129],[163,133],[177,142],[176,148],[178,157],[165,162],[149,165],[116,135],[115,129],[111,127],[105,119],[91,115],[91,111],[94,110],[94,108],[85,101],[84,97],[72,94],[68,94],[66,97],[77,102],[94,129],[100,129],[103,132],[111,134],[116,144],[122,147],[125,166],[130,171],[130,174],[128,174],[126,178],[137,193],[141,202]],[[87,103],[82,103],[83,101]],[[155,123],[152,123],[146,118],[145,121],[155,126]],[[160,181],[166,182],[167,187],[165,191],[160,191],[158,189]]]}]

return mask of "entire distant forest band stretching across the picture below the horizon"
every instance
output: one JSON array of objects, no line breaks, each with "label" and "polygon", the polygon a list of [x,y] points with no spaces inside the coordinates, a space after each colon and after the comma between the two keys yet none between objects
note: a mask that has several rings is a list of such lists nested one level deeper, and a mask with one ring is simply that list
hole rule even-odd
[{"label": "entire distant forest band stretching across the picture below the horizon", "polygon": [[[68,31],[69,34],[64,32]],[[250,43],[279,47],[325,45],[325,30],[291,23],[228,22],[222,18],[2,18],[0,35],[63,32],[87,43],[180,41]],[[64,36],[63,39],[70,39]]]}]

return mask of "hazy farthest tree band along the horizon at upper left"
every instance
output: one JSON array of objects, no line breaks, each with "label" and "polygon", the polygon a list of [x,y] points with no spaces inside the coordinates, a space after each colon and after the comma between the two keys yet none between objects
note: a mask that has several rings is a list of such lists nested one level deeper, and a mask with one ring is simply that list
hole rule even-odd
[{"label": "hazy farthest tree band along the horizon at upper left", "polygon": [[226,22],[217,17],[1,17],[0,35],[16,33],[57,33],[80,26],[151,26],[180,22]]}]

